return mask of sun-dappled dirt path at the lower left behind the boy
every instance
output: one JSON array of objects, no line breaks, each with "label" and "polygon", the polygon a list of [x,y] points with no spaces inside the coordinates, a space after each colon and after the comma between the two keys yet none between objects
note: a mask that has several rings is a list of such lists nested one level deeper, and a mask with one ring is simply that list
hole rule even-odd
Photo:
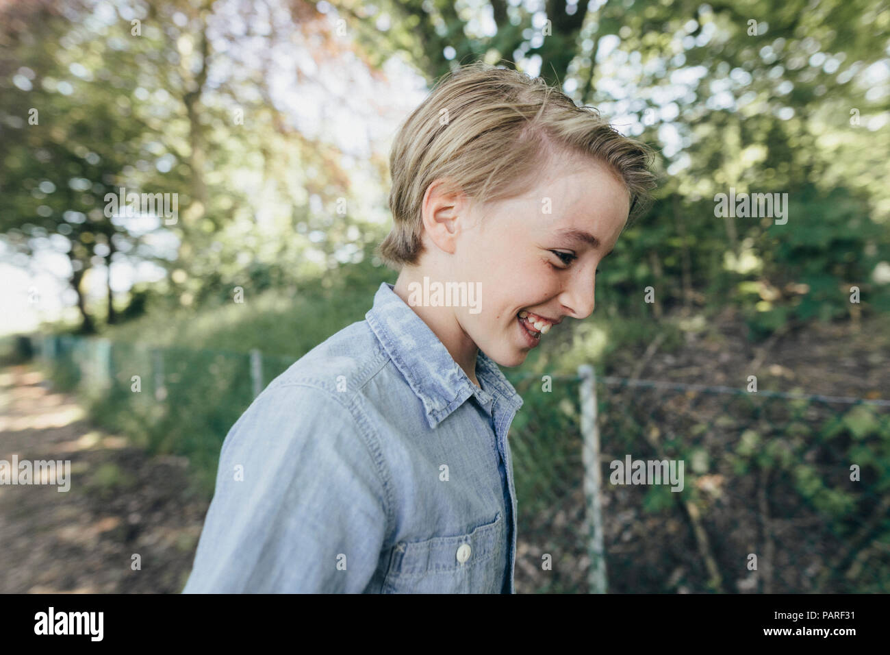
[{"label": "sun-dappled dirt path at the lower left behind the boy", "polygon": [[94,429],[30,366],[0,371],[0,460],[13,455],[69,460],[70,490],[0,484],[0,594],[182,590],[207,509],[187,493],[187,460]]}]

